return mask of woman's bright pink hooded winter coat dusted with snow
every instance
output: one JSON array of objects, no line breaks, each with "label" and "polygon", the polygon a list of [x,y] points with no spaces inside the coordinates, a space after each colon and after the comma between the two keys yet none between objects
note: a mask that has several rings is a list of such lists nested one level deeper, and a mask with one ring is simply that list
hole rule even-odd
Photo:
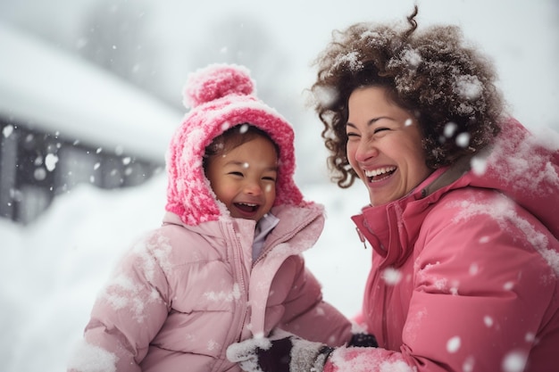
[{"label": "woman's bright pink hooded winter coat dusted with snow", "polygon": [[557,139],[508,120],[485,161],[355,216],[380,348],[339,348],[324,370],[559,371]]}]

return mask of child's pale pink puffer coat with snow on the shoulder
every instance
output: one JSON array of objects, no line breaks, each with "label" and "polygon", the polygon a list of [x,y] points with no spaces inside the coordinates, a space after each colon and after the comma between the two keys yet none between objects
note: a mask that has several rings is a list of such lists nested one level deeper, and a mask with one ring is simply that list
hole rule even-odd
[{"label": "child's pale pink puffer coat with snow on the shoulder", "polygon": [[[239,371],[230,343],[272,327],[332,346],[351,325],[322,301],[300,253],[318,239],[321,207],[278,206],[280,223],[252,262],[254,221],[165,224],[135,244],[100,293],[71,370]],[[109,352],[111,351],[111,352]]]}]

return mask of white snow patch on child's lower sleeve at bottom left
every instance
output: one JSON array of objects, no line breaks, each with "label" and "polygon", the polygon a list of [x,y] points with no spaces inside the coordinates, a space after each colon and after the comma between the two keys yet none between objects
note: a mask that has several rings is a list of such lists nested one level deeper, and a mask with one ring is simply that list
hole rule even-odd
[{"label": "white snow patch on child's lower sleeve at bottom left", "polygon": [[76,343],[68,369],[72,372],[116,372],[117,356],[99,346],[80,340]]}]

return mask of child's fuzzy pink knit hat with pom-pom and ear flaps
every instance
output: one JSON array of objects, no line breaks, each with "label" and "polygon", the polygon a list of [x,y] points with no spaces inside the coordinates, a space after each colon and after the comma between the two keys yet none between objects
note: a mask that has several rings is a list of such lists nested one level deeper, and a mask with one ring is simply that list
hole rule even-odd
[{"label": "child's fuzzy pink knit hat with pom-pom and ear flaps", "polygon": [[293,128],[280,113],[256,98],[254,81],[245,67],[211,64],[196,70],[188,76],[183,96],[183,103],[191,110],[173,135],[167,153],[167,211],[191,226],[229,216],[204,176],[202,158],[213,138],[243,123],[264,130],[280,147],[274,205],[307,205],[293,179]]}]

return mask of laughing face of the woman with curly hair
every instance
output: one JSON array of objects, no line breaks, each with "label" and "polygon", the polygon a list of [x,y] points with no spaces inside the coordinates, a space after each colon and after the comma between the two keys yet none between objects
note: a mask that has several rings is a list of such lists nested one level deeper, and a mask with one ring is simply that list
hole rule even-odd
[{"label": "laughing face of the woman with curly hair", "polygon": [[355,89],[348,113],[347,159],[367,186],[371,205],[400,199],[430,175],[417,120],[391,102],[385,88]]}]

